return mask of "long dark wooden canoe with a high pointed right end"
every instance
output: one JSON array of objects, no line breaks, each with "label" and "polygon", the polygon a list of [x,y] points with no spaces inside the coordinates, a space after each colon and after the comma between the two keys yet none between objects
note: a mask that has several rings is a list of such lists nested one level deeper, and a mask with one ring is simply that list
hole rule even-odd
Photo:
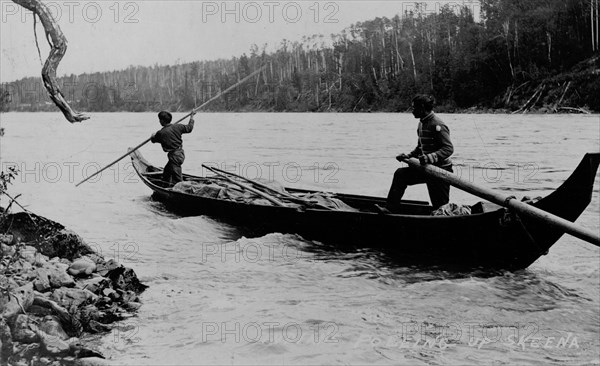
[{"label": "long dark wooden canoe with a high pointed right end", "polygon": [[[308,240],[337,247],[382,250],[402,265],[433,266],[448,270],[508,270],[527,268],[564,234],[510,210],[490,205],[480,213],[431,216],[427,202],[403,200],[399,213],[385,214],[381,197],[336,193],[357,211],[293,208],[249,204],[173,191],[161,184],[161,168],[148,163],[139,151],[131,153],[135,171],[154,193],[153,198],[183,215],[208,215],[251,228],[254,235],[295,233]],[[571,176],[537,208],[574,222],[591,201],[600,154],[586,154]],[[184,181],[220,180],[184,174]],[[293,195],[318,193],[286,188]]]}]

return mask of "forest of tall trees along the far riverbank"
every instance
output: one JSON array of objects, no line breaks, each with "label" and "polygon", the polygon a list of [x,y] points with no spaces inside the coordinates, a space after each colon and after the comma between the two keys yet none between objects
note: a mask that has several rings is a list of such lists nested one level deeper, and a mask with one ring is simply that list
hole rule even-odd
[{"label": "forest of tall trees along the far riverbank", "polygon": [[[65,75],[88,112],[188,111],[263,67],[211,111],[405,111],[416,93],[444,112],[600,111],[598,0],[481,0],[352,24],[338,34],[253,45],[231,59]],[[0,88],[2,111],[50,111],[40,78]]]}]

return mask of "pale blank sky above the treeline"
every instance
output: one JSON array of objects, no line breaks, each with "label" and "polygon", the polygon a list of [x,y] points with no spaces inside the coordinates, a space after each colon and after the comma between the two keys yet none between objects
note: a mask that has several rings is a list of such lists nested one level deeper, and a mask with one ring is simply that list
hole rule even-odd
[{"label": "pale blank sky above the treeline", "polygon": [[[248,54],[252,44],[273,49],[283,39],[323,34],[326,38],[353,23],[393,17],[414,9],[415,1],[396,0],[53,0],[43,2],[68,40],[58,76],[166,65]],[[419,1],[434,12],[448,1]],[[479,12],[475,0],[451,2]],[[0,0],[0,82],[41,71],[31,12]],[[40,22],[41,58],[49,46]]]}]

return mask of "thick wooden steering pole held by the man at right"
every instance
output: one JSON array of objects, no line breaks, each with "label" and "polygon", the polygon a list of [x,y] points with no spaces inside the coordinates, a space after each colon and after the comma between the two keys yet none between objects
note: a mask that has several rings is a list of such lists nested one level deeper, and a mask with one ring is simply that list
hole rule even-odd
[{"label": "thick wooden steering pole held by the man at right", "polygon": [[529,204],[520,202],[516,199],[511,199],[510,197],[504,196],[489,188],[481,187],[469,181],[463,180],[459,178],[458,175],[440,169],[434,165],[421,165],[419,163],[419,160],[415,158],[405,159],[404,162],[406,162],[413,168],[419,169],[427,175],[441,179],[446,183],[453,185],[454,187],[462,189],[463,191],[486,199],[500,206],[511,208],[520,214],[544,222],[545,224],[558,227],[576,238],[585,240],[588,243],[594,244],[596,246],[600,246],[600,236],[598,236],[597,233],[575,225],[571,221],[565,220],[562,217],[552,215],[551,213],[546,212],[544,210],[540,210],[535,206],[531,206]]}]

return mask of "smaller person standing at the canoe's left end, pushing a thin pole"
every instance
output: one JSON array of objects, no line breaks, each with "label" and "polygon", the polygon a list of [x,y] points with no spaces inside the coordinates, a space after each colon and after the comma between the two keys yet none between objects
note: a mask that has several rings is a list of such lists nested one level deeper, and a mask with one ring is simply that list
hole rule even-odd
[{"label": "smaller person standing at the canoe's left end, pushing a thin pole", "polygon": [[163,128],[153,133],[150,141],[152,143],[159,142],[163,151],[167,153],[169,161],[163,170],[163,180],[169,185],[174,185],[183,180],[181,165],[185,160],[185,154],[183,153],[181,135],[190,133],[194,129],[194,114],[196,112],[192,111],[190,122],[187,125],[171,124],[173,116],[169,112],[162,111],[158,114],[158,121]]}]

